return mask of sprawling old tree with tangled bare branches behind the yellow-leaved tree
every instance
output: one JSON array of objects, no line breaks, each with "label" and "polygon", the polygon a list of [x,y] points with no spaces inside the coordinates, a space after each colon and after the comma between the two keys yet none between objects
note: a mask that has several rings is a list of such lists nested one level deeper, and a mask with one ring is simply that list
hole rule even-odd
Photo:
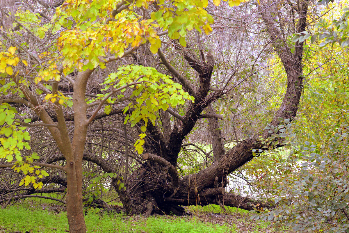
[{"label": "sprawling old tree with tangled bare branches behind the yellow-leaved tree", "polygon": [[[50,20],[52,8],[61,3],[37,1],[34,4],[29,1],[16,4],[40,12],[45,22]],[[143,122],[134,127],[129,123],[124,125],[126,114],[133,111],[123,112],[129,100],[113,105],[109,114],[99,111],[86,133],[83,186],[88,187],[90,179],[97,174],[115,173],[110,179],[103,177],[101,182],[115,188],[130,214],[171,211],[182,215],[185,212],[183,206],[196,204],[228,205],[246,210],[253,209],[251,203],[268,205],[227,190],[227,176],[254,156],[283,146],[280,131],[265,127],[269,124],[276,129],[284,120],[291,121],[296,116],[303,87],[304,42],[291,43],[290,38],[293,33],[305,31],[312,22],[307,21],[311,5],[309,0],[250,1],[238,7],[229,7],[225,2],[219,7],[209,4],[207,11],[215,19],[210,35],[200,35],[192,30],[186,37],[187,46],[183,47],[178,40],[171,40],[164,33],[161,36],[163,45],[157,54],[152,54],[149,44],[145,43],[124,58],[108,63],[105,69],[95,69],[88,75],[87,99],[108,92],[101,91],[99,84],[118,67],[137,64],[155,67],[158,72],[172,76],[194,96],[194,103],[160,110],[155,125],[147,125],[142,155],[134,151],[133,144],[142,133]],[[1,8],[2,25],[12,25],[7,11],[18,6]],[[151,9],[144,9],[139,14],[150,17]],[[315,13],[311,17],[316,17]],[[15,26],[12,30],[22,29]],[[30,40],[30,33],[26,36],[22,39]],[[287,80],[282,82],[285,88],[274,86],[275,76],[268,77],[268,59],[273,56],[284,67]],[[70,80],[77,80],[81,73],[70,73],[59,82],[57,90],[67,97],[72,96],[78,86]],[[41,89],[45,91],[45,88]],[[0,103],[3,102],[15,106],[19,113],[27,114],[31,122],[42,123],[23,98],[2,94]],[[88,108],[87,119],[95,109],[95,106]],[[47,113],[52,122],[61,117],[54,111],[47,110]],[[76,130],[75,114],[76,110],[69,107],[62,113],[70,140]],[[31,151],[23,151],[24,156],[36,152],[40,156],[38,162],[66,165],[65,157],[47,127],[38,125],[27,129],[31,135]],[[44,183],[43,189],[36,190],[18,187],[23,174],[1,168],[0,203],[30,194],[64,192],[67,187],[65,173],[54,168],[47,171],[50,176],[40,180]],[[119,188],[120,183],[125,183],[125,188]],[[103,193],[94,188],[90,193],[84,193],[86,201],[88,194],[94,200],[103,199]]]}]

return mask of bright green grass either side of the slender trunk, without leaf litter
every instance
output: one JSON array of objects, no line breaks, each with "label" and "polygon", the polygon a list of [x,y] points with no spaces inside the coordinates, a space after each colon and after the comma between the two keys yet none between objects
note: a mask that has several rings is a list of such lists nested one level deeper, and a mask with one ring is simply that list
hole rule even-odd
[{"label": "bright green grass either side of the slender trunk, without leaf litter", "polygon": [[[64,233],[68,230],[65,212],[43,210],[42,206],[20,203],[0,209],[0,232]],[[124,216],[119,213],[93,213],[85,215],[87,232],[91,233],[223,233],[235,232],[235,226],[203,223],[195,218],[173,216]]]}]

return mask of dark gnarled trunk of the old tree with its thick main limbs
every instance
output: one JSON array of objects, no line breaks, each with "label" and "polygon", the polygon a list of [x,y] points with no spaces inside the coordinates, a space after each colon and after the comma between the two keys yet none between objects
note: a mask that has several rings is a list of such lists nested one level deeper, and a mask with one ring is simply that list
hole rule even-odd
[{"label": "dark gnarled trunk of the old tree with its thick main limbs", "polygon": [[[305,30],[308,2],[302,1],[299,6],[297,32]],[[275,9],[266,9],[265,5],[261,2],[259,10],[262,20],[265,22],[266,31],[279,54],[287,74],[287,90],[279,110],[270,121],[270,125],[279,126],[283,123],[282,121],[280,122],[280,119],[289,119],[291,121],[298,110],[303,88],[303,43],[296,43],[295,47],[292,48],[294,52],[292,52],[291,47],[289,47],[290,45],[287,43],[287,38],[284,36],[285,33],[282,32],[282,27],[279,29],[275,26],[277,25],[277,20],[273,18],[273,14],[270,13]],[[276,134],[279,132],[269,133],[269,130],[264,130],[260,135],[239,142],[225,153],[222,153],[223,150],[221,147],[219,149],[220,152],[216,153],[217,156],[215,156],[216,159],[214,164],[196,174],[186,175],[183,179],[179,180],[178,186],[174,185],[174,181],[177,180],[174,178],[176,174],[170,171],[177,166],[178,153],[184,137],[193,129],[203,108],[207,107],[217,98],[220,98],[223,94],[222,91],[208,94],[214,63],[213,57],[208,54],[207,63],[201,62],[203,59],[199,60],[196,58],[196,55],[191,51],[189,46],[184,48],[176,41],[173,41],[173,43],[173,46],[183,53],[184,58],[190,66],[198,72],[200,83],[197,91],[193,93],[195,97],[194,104],[190,105],[183,118],[179,119],[181,122],[174,125],[166,143],[162,141],[163,136],[157,131],[156,126],[147,128],[148,130],[151,128],[148,137],[157,142],[157,144],[153,144],[155,148],[151,149],[156,155],[143,155],[143,159],[151,160],[151,162],[144,163],[142,168],[138,172],[135,172],[133,178],[131,178],[131,184],[128,187],[132,187],[132,189],[129,189],[129,192],[135,197],[134,202],[141,206],[141,212],[146,212],[147,214],[149,214],[149,212],[173,212],[176,214],[184,214],[184,209],[179,205],[224,204],[246,210],[253,209],[251,203],[259,204],[258,206],[268,206],[268,204],[265,203],[249,200],[247,197],[225,193],[225,186],[228,182],[226,177],[240,166],[251,161],[254,156],[260,155],[261,152],[258,151],[263,152],[269,150],[268,148],[263,148],[265,144],[260,141],[261,137],[269,138],[271,136],[276,136],[276,139],[274,139],[275,142],[277,140],[282,141],[282,138],[277,138]],[[169,72],[171,72],[174,77],[178,77],[178,80],[187,91],[190,93],[193,92],[193,88],[182,80],[183,77],[169,65],[169,62],[166,61],[163,54],[161,52],[158,54]],[[212,129],[217,128],[214,124],[215,122],[210,122]],[[218,140],[216,140],[216,144],[217,143]],[[157,147],[157,145],[162,145],[161,149]],[[282,143],[275,145],[275,147],[280,146],[282,146]],[[257,151],[255,154],[252,152],[253,149]],[[165,161],[169,163],[165,163]],[[150,208],[151,205],[149,203],[153,205],[153,208]]]}]

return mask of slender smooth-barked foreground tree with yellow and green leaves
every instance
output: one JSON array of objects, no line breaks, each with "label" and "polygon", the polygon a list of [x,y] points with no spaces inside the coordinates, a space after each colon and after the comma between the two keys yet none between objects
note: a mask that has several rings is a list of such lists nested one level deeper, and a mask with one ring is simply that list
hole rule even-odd
[{"label": "slender smooth-barked foreground tree with yellow and green leaves", "polygon": [[[54,6],[54,4],[45,1],[41,1],[39,4],[44,8]],[[138,7],[148,8],[147,1],[137,1],[135,4]],[[94,103],[90,103],[90,105],[86,102],[88,78],[97,67],[105,68],[106,63],[125,57],[147,40],[152,44],[152,50],[157,50],[161,45],[161,41],[156,35],[157,25],[151,24],[153,20],[145,20],[144,18],[142,20],[137,14],[125,10],[132,9],[133,6],[135,5],[124,1],[66,1],[57,8],[55,13],[44,8],[39,9],[39,13],[33,12],[35,10],[34,3],[25,5],[28,7],[26,11],[18,6],[12,6],[13,12],[7,12],[5,8],[2,8],[3,28],[6,25],[6,28],[10,29],[9,26],[12,22],[9,20],[11,19],[16,24],[14,28],[2,31],[4,42],[2,45],[5,50],[1,54],[2,78],[5,78],[2,80],[2,84],[7,84],[3,90],[11,91],[14,95],[16,95],[15,92],[20,92],[18,97],[3,98],[2,100],[5,104],[2,104],[3,127],[1,131],[7,138],[3,138],[1,141],[1,157],[5,157],[8,162],[11,162],[13,154],[15,154],[17,160],[15,164],[2,167],[14,167],[16,171],[22,171],[24,174],[34,172],[35,168],[39,168],[38,166],[48,166],[64,171],[67,176],[66,204],[70,232],[86,232],[82,211],[83,152],[88,125],[94,120],[102,106],[107,103],[117,104],[126,99],[132,100],[134,97],[138,103],[134,105],[130,103],[125,108],[125,112],[129,107],[135,108],[127,120],[133,125],[142,120],[144,122],[142,127],[146,127],[148,120],[154,122],[154,117],[152,117],[154,111],[160,108],[166,110],[169,105],[175,107],[178,103],[183,104],[184,99],[191,99],[179,84],[173,83],[168,76],[158,73],[155,69],[126,66],[120,67],[119,72],[112,73],[106,79],[107,87],[112,86],[113,88],[108,94],[96,96],[92,101]],[[201,8],[200,4],[198,8],[194,8],[193,13],[204,14],[202,4]],[[187,15],[190,16],[190,14]],[[70,17],[73,17],[73,21]],[[196,27],[200,27],[206,22],[206,18],[196,19],[196,22],[194,21],[197,24]],[[33,26],[34,23],[39,25]],[[209,28],[209,25],[206,27]],[[181,35],[184,36],[185,29],[182,31],[184,32]],[[14,33],[10,34],[10,32]],[[19,37],[23,32],[27,34]],[[42,46],[36,49],[38,45]],[[125,52],[125,48],[129,46],[131,48]],[[115,55],[106,56],[106,53]],[[67,75],[74,69],[77,69],[78,73],[73,80]],[[134,76],[138,77],[133,79]],[[69,81],[73,86],[72,104],[59,90],[61,78]],[[14,86],[15,89],[10,90],[11,86]],[[128,87],[134,88],[134,90],[125,96],[122,92]],[[157,91],[166,88],[167,91]],[[40,97],[43,92],[46,94],[44,99]],[[139,96],[141,92],[142,95]],[[113,95],[116,95],[117,98],[112,98]],[[175,96],[180,96],[181,99],[176,98],[174,101]],[[14,113],[17,111],[6,102],[24,104],[31,108],[43,123],[27,125],[25,122],[16,120],[13,125]],[[110,113],[110,105],[104,108],[106,113]],[[88,116],[87,109],[91,106],[97,107]],[[74,135],[72,139],[69,137],[72,132],[69,133],[64,118],[64,107],[73,107]],[[54,123],[49,111],[55,114],[57,124]],[[36,154],[26,156],[24,161],[20,150],[23,149],[23,144],[28,150],[30,146],[28,143],[22,142],[23,139],[29,139],[28,134],[22,131],[25,128],[18,127],[16,129],[15,125],[21,124],[47,127],[66,160],[66,166],[33,162],[33,159],[38,159]],[[142,128],[142,131],[145,131],[145,128]],[[23,136],[18,137],[20,133]],[[139,151],[142,151],[142,137],[144,136],[141,134],[137,145]],[[14,141],[17,141],[16,146]],[[35,166],[32,167],[29,164]],[[35,172],[39,177],[47,174],[43,171],[40,174],[39,170]],[[25,185],[33,183],[34,188],[43,185],[42,182],[37,183],[33,175],[25,176],[20,185],[23,183]]]}]

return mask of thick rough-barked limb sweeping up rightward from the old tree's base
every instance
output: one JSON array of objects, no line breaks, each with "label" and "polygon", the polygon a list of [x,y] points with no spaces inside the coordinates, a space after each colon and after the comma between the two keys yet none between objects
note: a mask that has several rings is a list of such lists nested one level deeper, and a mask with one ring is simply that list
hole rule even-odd
[{"label": "thick rough-barked limb sweeping up rightward from the old tree's base", "polygon": [[[265,17],[263,15],[264,13],[265,12],[261,14],[263,20],[266,20],[267,30],[274,30],[274,27],[276,27],[276,25],[269,24],[270,18]],[[306,17],[306,12],[302,17]],[[270,33],[270,37],[275,36],[275,34],[273,33],[275,33],[275,31]],[[302,47],[301,44],[298,46]],[[298,48],[298,51],[301,52],[302,49]],[[287,74],[287,89],[279,110],[276,112],[274,118],[270,122],[270,125],[273,126],[280,125],[279,119],[292,120],[295,117],[298,109],[298,103],[302,93],[303,81],[302,54],[297,54],[298,58],[293,58],[292,56],[290,56],[291,54],[289,48],[285,48],[284,50],[278,50],[278,53],[280,54],[280,58],[282,59],[282,61],[285,62],[284,67]],[[288,57],[289,59],[285,59],[286,57]],[[268,130],[265,130],[260,136],[262,136],[262,138],[268,138],[273,134],[274,132],[268,133]],[[214,187],[213,177],[217,176],[219,180],[223,180],[227,174],[235,171],[237,168],[253,159],[253,149],[256,149],[257,151],[268,150],[266,148],[263,148],[263,146],[265,146],[265,144],[263,144],[260,141],[259,136],[254,136],[252,138],[248,138],[238,143],[235,147],[231,148],[225,154],[225,156],[221,157],[213,165],[201,170],[197,174],[185,176],[183,182],[180,183],[178,195],[187,196],[188,193],[195,193],[195,191],[189,189],[189,187],[196,187],[198,190],[202,190],[208,187]],[[279,144],[275,146],[282,145]]]}]

